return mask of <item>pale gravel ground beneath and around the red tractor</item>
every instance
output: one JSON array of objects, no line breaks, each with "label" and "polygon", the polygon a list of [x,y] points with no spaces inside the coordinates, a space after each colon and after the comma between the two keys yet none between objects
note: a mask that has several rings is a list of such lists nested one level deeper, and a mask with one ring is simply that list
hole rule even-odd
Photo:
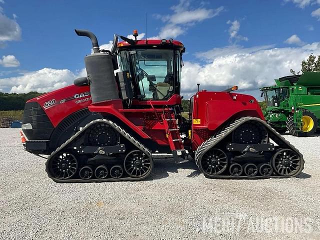
[{"label": "pale gravel ground beneath and around the red tractor", "polygon": [[18,131],[0,128],[1,239],[320,239],[320,136],[285,136],[298,178],[207,179],[167,159],[145,181],[59,184]]}]

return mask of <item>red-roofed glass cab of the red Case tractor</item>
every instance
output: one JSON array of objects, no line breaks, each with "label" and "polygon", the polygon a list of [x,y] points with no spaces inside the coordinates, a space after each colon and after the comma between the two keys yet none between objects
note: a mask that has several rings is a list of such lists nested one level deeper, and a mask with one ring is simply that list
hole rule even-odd
[{"label": "red-roofed glass cab of the red Case tractor", "polygon": [[[133,34],[137,36],[137,31]],[[128,74],[132,97],[140,100],[168,100],[180,94],[183,44],[173,39],[132,40],[116,44],[118,65]]]}]

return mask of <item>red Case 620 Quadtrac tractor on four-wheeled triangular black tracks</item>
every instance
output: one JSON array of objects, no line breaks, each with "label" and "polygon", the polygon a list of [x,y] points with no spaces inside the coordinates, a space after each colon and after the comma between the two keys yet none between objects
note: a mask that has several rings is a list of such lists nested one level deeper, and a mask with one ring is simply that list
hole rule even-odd
[{"label": "red Case 620 Quadtrac tractor on four-wheeled triangular black tracks", "polygon": [[87,77],[24,108],[25,149],[49,155],[46,172],[54,181],[141,180],[152,171],[154,153],[181,162],[191,155],[212,178],[292,177],[303,169],[301,153],[265,123],[256,99],[234,88],[198,90],[189,118],[181,116],[181,42],[123,36],[117,42],[115,35],[108,51],[93,33],[75,32],[92,42]]}]

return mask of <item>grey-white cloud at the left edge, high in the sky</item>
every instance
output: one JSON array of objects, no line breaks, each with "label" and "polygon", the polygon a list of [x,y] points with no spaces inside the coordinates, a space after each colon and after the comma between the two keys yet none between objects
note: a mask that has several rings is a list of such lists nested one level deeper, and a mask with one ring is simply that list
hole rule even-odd
[{"label": "grey-white cloud at the left edge, high in the sky", "polygon": [[21,38],[21,28],[15,18],[4,15],[0,9],[0,41],[13,41]]}]

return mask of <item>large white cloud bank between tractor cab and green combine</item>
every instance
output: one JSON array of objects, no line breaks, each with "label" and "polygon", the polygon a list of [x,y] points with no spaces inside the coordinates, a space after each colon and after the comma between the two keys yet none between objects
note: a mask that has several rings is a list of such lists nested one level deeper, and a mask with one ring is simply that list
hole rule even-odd
[{"label": "large white cloud bank between tractor cab and green combine", "polygon": [[[227,47],[226,47],[227,48]],[[230,53],[216,48],[204,54],[202,60],[209,62],[201,65],[189,61],[182,68],[181,87],[185,96],[196,91],[196,83],[200,88],[222,90],[228,86],[238,85],[239,92],[250,92],[259,95],[259,87],[274,84],[273,79],[289,75],[289,69],[301,68],[301,61],[313,52],[320,54],[320,43],[306,44],[299,47],[254,48],[236,47]],[[218,53],[218,54],[217,54]],[[201,57],[201,54],[198,54]]]}]

